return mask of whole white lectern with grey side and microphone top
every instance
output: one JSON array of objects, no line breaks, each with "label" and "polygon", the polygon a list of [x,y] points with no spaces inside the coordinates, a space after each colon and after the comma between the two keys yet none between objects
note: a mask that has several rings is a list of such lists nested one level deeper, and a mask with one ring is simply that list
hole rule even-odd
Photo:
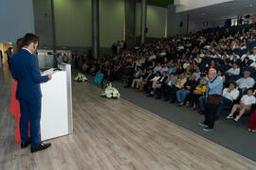
[{"label": "whole white lectern with grey side and microphone top", "polygon": [[45,141],[73,133],[71,65],[61,63],[44,75],[52,79],[41,84],[41,140]]}]

